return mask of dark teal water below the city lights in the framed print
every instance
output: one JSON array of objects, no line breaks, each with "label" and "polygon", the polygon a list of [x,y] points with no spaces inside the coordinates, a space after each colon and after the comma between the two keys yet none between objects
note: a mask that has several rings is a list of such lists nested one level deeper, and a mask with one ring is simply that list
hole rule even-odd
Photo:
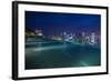
[{"label": "dark teal water below the city lights in the framed print", "polygon": [[36,38],[26,41],[26,69],[95,67],[101,50],[94,45]]}]

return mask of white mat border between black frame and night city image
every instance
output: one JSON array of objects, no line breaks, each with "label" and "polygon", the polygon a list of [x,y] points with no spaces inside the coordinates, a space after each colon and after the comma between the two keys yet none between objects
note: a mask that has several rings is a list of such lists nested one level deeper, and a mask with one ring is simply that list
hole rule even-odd
[{"label": "white mat border between black frame and night city image", "polygon": [[[19,78],[24,77],[43,77],[43,75],[58,75],[58,74],[79,74],[79,73],[94,73],[105,72],[107,51],[105,51],[105,31],[107,31],[107,11],[105,9],[91,9],[91,8],[72,8],[72,7],[54,7],[54,6],[38,6],[38,4],[19,4]],[[47,11],[47,12],[68,12],[68,13],[91,13],[101,14],[101,67],[90,68],[63,68],[63,69],[36,69],[24,70],[24,11]]]}]

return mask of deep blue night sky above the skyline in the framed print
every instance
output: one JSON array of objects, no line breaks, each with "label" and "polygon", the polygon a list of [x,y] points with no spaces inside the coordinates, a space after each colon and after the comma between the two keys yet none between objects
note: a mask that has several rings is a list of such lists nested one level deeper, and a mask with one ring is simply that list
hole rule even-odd
[{"label": "deep blue night sky above the skyline in the framed print", "polygon": [[59,36],[62,32],[100,34],[101,16],[26,11],[26,28],[42,30],[44,36]]}]

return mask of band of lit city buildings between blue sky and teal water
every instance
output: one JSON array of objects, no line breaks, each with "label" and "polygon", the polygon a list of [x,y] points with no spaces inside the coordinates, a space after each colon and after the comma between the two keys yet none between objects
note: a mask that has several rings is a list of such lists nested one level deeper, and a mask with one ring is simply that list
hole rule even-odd
[{"label": "band of lit city buildings between blue sky and teal water", "polygon": [[[68,32],[61,32],[60,36],[44,36],[42,30],[34,30],[33,32],[26,32],[27,36],[38,36],[38,37],[46,37],[51,40],[57,41],[65,41],[65,42],[72,42],[78,44],[89,44],[89,45],[99,45],[100,44],[100,36],[95,34],[94,32],[87,33],[81,32],[80,36],[77,33],[68,33]],[[28,39],[27,39],[28,40]]]}]

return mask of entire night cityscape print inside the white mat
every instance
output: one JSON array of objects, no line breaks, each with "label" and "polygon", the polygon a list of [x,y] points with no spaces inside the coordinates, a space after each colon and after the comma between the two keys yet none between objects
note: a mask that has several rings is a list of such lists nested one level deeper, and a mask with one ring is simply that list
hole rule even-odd
[{"label": "entire night cityscape print inside the white mat", "polygon": [[26,70],[101,65],[100,14],[26,11]]}]

